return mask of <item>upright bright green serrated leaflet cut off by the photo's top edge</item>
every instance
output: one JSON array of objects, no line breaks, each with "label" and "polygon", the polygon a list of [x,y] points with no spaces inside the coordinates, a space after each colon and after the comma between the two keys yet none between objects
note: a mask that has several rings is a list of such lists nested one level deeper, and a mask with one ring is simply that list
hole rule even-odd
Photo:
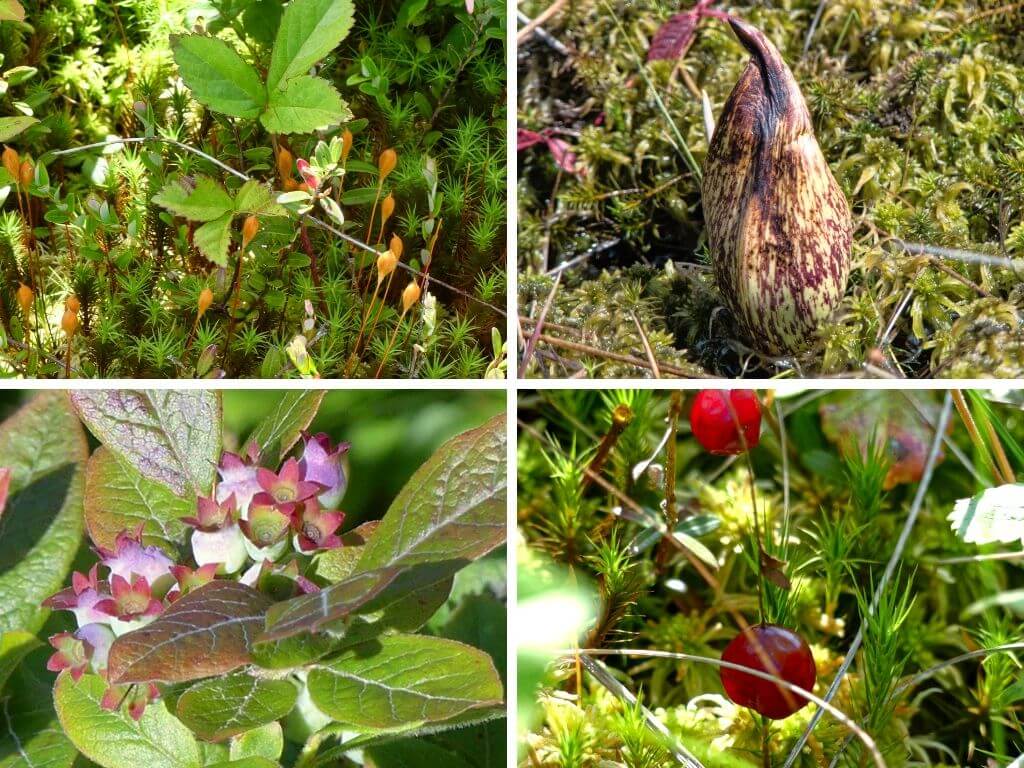
[{"label": "upright bright green serrated leaflet cut off by the photo's top edge", "polygon": [[306,74],[352,28],[351,0],[292,0],[278,28],[267,73],[268,91]]}]

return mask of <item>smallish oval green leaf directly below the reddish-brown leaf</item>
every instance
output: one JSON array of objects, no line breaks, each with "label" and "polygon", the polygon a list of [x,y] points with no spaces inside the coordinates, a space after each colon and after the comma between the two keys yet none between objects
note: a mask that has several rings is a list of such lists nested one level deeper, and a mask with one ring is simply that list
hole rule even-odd
[{"label": "smallish oval green leaf directly below the reddish-brown leaf", "polygon": [[289,680],[229,675],[194,685],[178,699],[178,718],[200,738],[233,736],[285,717],[299,691]]}]

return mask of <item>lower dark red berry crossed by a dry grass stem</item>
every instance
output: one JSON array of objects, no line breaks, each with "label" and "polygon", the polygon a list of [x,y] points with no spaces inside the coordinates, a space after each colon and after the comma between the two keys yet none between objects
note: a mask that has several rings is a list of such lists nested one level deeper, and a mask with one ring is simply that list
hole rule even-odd
[{"label": "lower dark red berry crossed by a dry grass stem", "polygon": [[[782,678],[810,691],[818,674],[811,649],[796,632],[773,624],[759,624],[736,635],[722,654],[723,662]],[[733,703],[749,707],[766,718],[782,720],[807,705],[807,699],[782,686],[748,675],[720,669],[722,686]]]}]

